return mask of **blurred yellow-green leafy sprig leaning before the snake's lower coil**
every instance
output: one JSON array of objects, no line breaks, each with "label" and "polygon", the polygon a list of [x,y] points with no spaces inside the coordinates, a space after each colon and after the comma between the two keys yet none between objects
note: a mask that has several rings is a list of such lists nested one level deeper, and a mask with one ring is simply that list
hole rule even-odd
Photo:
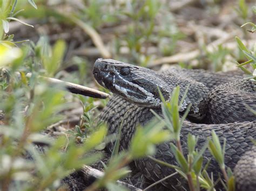
[{"label": "blurred yellow-green leafy sprig leaning before the snake's lower coil", "polygon": [[170,132],[163,128],[164,123],[159,124],[158,121],[152,121],[143,128],[138,126],[129,149],[112,155],[107,166],[105,165],[104,176],[86,190],[97,190],[104,186],[109,190],[120,189],[120,187],[113,187],[114,182],[130,173],[127,165],[132,160],[153,155],[156,152],[156,145],[170,140]]}]

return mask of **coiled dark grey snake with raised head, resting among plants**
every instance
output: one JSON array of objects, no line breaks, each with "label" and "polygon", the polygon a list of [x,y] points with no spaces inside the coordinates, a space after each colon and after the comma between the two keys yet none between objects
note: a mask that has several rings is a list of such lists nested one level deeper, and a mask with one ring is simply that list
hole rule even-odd
[{"label": "coiled dark grey snake with raised head, resting among plants", "polygon": [[[97,59],[93,76],[113,93],[99,118],[107,123],[109,133],[118,133],[122,123],[120,149],[129,148],[139,124],[145,126],[154,118],[151,110],[162,115],[159,90],[168,101],[174,88],[179,86],[179,101],[186,93],[180,115],[191,105],[180,132],[184,156],[188,154],[186,140],[189,133],[198,137],[197,148],[200,149],[214,130],[221,144],[226,140],[225,165],[233,170],[236,189],[256,190],[256,146],[253,143],[256,117],[251,112],[256,109],[255,81],[245,80],[242,75],[232,72],[213,73],[203,69],[171,67],[157,72],[112,59]],[[157,145],[154,157],[177,165],[170,142]],[[207,172],[216,177],[220,169],[210,151],[206,150],[203,158],[204,164],[211,160]],[[151,181],[176,172],[149,157],[136,160],[135,164]],[[169,190],[187,190],[187,184],[179,174],[161,183]]]}]

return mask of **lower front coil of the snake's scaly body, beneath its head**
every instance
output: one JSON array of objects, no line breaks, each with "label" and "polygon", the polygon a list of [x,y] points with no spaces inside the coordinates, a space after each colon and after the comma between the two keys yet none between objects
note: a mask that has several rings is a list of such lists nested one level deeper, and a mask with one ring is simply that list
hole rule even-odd
[{"label": "lower front coil of the snake's scaly body, beneath its head", "polygon": [[[160,110],[156,111],[160,112]],[[145,124],[149,122],[153,115],[149,108],[138,107],[138,105],[134,105],[117,95],[113,95],[110,98],[107,106],[104,108],[102,114],[100,115],[100,119],[107,122],[109,125],[109,133],[117,133],[123,117],[124,121],[122,137],[120,139],[122,141],[120,142],[120,146],[125,150],[129,146],[131,137],[138,123]],[[206,138],[211,136],[212,130],[214,130],[220,137],[221,143],[223,143],[223,139],[226,138],[225,164],[231,169],[235,167],[235,164],[237,164],[241,155],[244,154],[247,150],[250,150],[253,145],[252,139],[256,138],[255,121],[215,125],[196,124],[185,121],[183,127],[181,128],[180,137],[184,154],[187,154],[186,140],[188,133],[199,136],[197,148],[201,148],[204,145]],[[111,149],[112,148],[110,147],[110,150]],[[157,153],[154,157],[159,160],[169,162],[170,164],[177,165],[176,160],[170,150],[170,143],[160,144],[157,147]],[[206,152],[204,154],[204,163],[207,162],[208,159],[212,159],[211,165],[208,167],[208,172],[213,172],[213,174],[217,175],[220,172],[220,169],[210,152]],[[136,161],[136,165],[143,172],[147,179],[153,181],[163,179],[165,176],[175,172],[174,169],[158,165],[156,162],[149,158]],[[256,168],[253,166],[253,162],[248,164],[248,166],[251,166],[252,172],[256,172]],[[177,190],[181,190],[183,187],[184,189],[187,188],[184,184],[185,182],[181,183],[181,181],[182,180],[180,179],[180,175],[177,175],[164,181],[163,185],[169,188],[171,186],[173,189]]]}]

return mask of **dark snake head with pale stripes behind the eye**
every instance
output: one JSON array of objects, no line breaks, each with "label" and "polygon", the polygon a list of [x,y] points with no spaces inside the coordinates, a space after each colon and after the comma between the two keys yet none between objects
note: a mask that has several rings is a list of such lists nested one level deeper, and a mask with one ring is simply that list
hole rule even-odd
[{"label": "dark snake head with pale stripes behind the eye", "polygon": [[151,69],[112,59],[97,59],[93,67],[97,82],[125,100],[144,107],[159,107],[159,90],[165,100],[170,93],[163,76]]}]

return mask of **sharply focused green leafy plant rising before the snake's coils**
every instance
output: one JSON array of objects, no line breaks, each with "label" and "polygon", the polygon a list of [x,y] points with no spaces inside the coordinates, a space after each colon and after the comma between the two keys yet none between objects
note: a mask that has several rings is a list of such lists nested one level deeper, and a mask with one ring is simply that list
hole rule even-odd
[{"label": "sharply focused green leafy plant rising before the snake's coils", "polygon": [[181,107],[181,103],[183,103],[185,96],[186,93],[179,102],[179,86],[174,88],[169,102],[166,102],[164,97],[161,96],[161,100],[163,102],[161,109],[164,114],[164,119],[152,111],[161,122],[164,122],[165,126],[172,135],[172,141],[176,143],[174,144],[172,142],[170,146],[179,166],[167,164],[166,162],[159,161],[153,157],[150,158],[156,162],[159,162],[159,164],[165,165],[166,167],[176,169],[176,171],[187,180],[190,190],[200,190],[200,188],[212,190],[217,182],[214,182],[213,178],[210,178],[206,172],[208,164],[206,164],[205,168],[203,168],[203,154],[208,148],[223,172],[225,182],[220,179],[223,186],[226,190],[234,190],[234,178],[232,176],[232,172],[229,169],[229,173],[227,175],[225,169],[225,140],[223,148],[221,148],[219,138],[214,131],[212,131],[212,138],[208,138],[206,140],[205,145],[200,151],[196,149],[198,137],[189,133],[187,137],[188,154],[187,156],[184,155],[180,142],[180,131],[190,110],[190,105],[187,107],[184,115],[181,118],[179,118],[179,108]]}]

